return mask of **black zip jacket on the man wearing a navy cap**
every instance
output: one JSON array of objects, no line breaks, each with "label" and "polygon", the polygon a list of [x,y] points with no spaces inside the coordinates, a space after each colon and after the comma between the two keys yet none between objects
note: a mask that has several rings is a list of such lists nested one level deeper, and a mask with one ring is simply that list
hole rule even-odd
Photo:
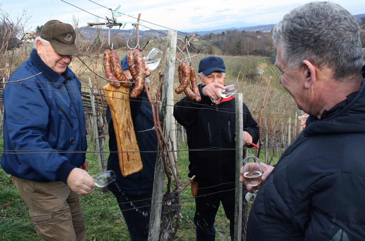
[{"label": "black zip jacket on the man wearing a navy cap", "polygon": [[[239,173],[235,169],[235,99],[216,107],[209,97],[203,96],[204,86],[199,85],[200,102],[184,97],[174,105],[174,117],[187,131],[189,177],[196,175],[195,180],[205,187],[234,188]],[[243,127],[252,136],[253,143],[257,143],[257,122],[244,103]],[[223,183],[224,187],[219,186]]]}]

